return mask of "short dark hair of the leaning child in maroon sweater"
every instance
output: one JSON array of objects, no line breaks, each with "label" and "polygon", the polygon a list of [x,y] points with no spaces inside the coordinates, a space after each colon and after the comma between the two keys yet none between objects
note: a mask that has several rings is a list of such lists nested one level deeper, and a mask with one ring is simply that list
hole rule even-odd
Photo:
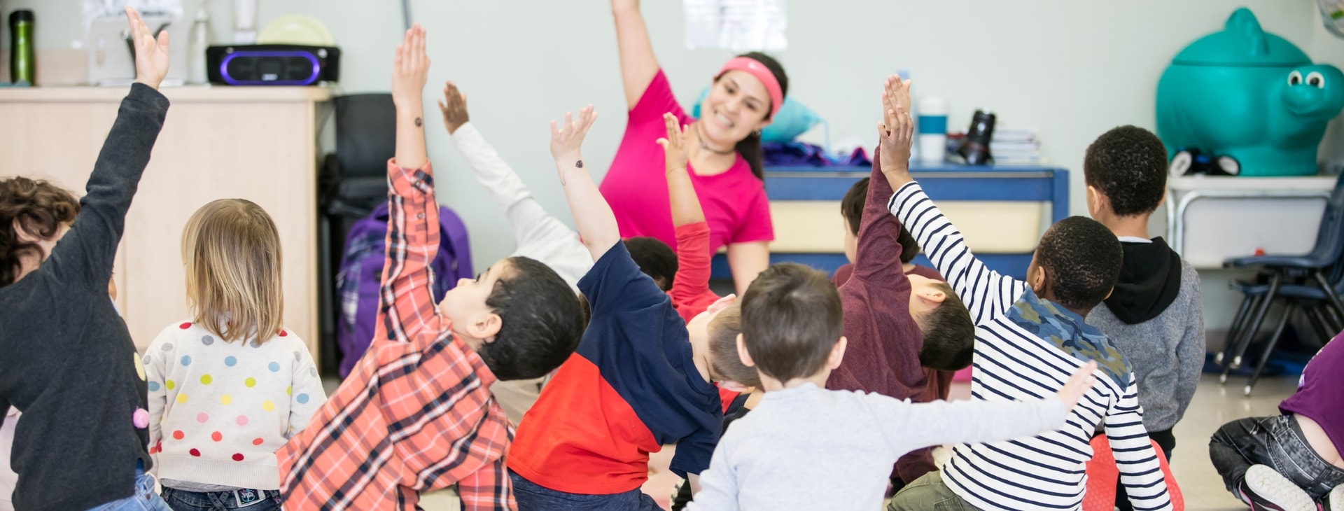
[{"label": "short dark hair of the leaning child in maroon sweater", "polygon": [[[919,366],[960,371],[970,366],[976,348],[976,321],[970,319],[966,304],[948,282],[935,282],[934,286],[942,290],[943,300],[917,321],[923,332]],[[915,300],[914,296],[910,299]]]}]

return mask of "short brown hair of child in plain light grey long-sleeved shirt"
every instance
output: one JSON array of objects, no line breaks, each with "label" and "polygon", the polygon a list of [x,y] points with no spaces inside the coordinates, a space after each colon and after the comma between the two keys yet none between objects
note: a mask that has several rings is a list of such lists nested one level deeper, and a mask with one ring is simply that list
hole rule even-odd
[{"label": "short brown hair of child in plain light grey long-sleeved shirt", "polygon": [[825,273],[781,262],[742,294],[742,338],[755,367],[788,382],[825,367],[844,331],[840,293]]}]

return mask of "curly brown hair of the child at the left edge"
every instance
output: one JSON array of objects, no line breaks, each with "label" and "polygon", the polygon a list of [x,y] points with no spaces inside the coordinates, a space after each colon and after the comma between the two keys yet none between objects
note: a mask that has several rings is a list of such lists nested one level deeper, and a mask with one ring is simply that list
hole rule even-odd
[{"label": "curly brown hair of the child at the left edge", "polygon": [[19,280],[20,258],[47,256],[38,243],[19,241],[16,223],[31,237],[50,239],[77,214],[79,199],[62,187],[28,178],[0,179],[0,288]]}]

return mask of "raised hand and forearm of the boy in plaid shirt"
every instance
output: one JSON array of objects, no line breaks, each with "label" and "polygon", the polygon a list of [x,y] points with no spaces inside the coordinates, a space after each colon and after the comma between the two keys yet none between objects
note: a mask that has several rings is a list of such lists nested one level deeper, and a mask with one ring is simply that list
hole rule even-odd
[{"label": "raised hand and forearm of the boy in plaid shirt", "polygon": [[396,105],[396,164],[421,168],[429,163],[425,152],[425,79],[429,56],[425,54],[425,27],[418,23],[406,31],[392,61],[392,104]]}]

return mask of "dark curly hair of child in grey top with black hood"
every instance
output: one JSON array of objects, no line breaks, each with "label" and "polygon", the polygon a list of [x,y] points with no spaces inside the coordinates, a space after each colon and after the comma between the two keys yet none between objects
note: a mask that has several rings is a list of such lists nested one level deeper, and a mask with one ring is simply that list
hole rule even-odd
[{"label": "dark curly hair of child in grey top with black hood", "polygon": [[1146,129],[1113,128],[1087,147],[1083,180],[1120,217],[1152,212],[1167,192],[1167,147]]}]

